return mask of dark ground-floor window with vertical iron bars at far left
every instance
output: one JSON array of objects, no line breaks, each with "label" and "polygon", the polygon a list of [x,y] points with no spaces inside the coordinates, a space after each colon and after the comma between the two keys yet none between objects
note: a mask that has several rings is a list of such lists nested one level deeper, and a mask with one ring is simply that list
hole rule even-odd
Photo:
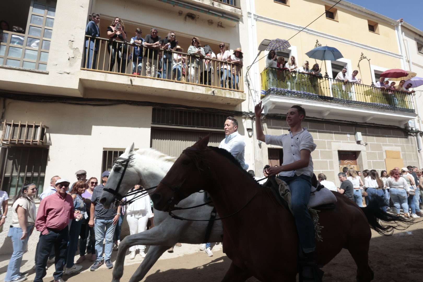
[{"label": "dark ground-floor window with vertical iron bars at far left", "polygon": [[43,192],[48,148],[3,147],[1,160],[1,190],[14,198],[24,183],[34,183],[37,197]]}]

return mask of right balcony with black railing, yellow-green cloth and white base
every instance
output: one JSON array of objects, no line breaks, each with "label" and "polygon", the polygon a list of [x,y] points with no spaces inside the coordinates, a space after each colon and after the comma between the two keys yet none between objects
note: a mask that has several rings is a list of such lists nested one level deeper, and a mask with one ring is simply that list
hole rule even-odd
[{"label": "right balcony with black railing, yellow-green cloth and white base", "polygon": [[416,117],[408,93],[342,82],[298,72],[266,68],[261,73],[263,104],[267,112],[302,104],[308,116],[404,125]]}]

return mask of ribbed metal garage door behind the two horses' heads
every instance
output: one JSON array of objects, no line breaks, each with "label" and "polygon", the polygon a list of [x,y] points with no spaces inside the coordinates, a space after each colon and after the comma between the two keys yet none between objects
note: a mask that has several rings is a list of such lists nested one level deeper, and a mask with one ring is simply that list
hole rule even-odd
[{"label": "ribbed metal garage door behind the two horses' heads", "polygon": [[[179,157],[182,151],[209,133],[210,131],[203,130],[151,128],[150,147],[169,156]],[[222,133],[213,132],[209,145],[217,147],[223,138],[225,138],[223,130]]]}]

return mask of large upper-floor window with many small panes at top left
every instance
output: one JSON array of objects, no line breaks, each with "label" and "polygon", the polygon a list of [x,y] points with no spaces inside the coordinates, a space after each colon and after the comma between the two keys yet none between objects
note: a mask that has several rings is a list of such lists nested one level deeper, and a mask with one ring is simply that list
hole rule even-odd
[{"label": "large upper-floor window with many small panes at top left", "polygon": [[[27,20],[19,16],[14,18],[15,3],[9,1],[3,9],[6,15],[4,19],[10,22],[18,22],[24,32],[4,31],[0,34],[0,64],[20,68],[30,68],[45,71],[49,57],[50,42],[56,13],[55,0],[32,0],[24,4],[21,12],[29,11]],[[26,7],[25,7],[26,6]]]}]

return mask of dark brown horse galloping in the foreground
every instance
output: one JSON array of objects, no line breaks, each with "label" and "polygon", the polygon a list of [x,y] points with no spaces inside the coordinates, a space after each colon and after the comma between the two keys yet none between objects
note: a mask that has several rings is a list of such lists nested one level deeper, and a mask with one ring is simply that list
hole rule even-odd
[{"label": "dark brown horse galloping in the foreground", "polygon": [[[154,208],[171,211],[188,195],[209,192],[223,223],[223,246],[232,260],[222,281],[295,281],[298,272],[298,235],[294,217],[276,200],[270,189],[262,189],[230,153],[207,147],[209,136],[184,150],[157,189],[151,194]],[[390,216],[374,202],[360,208],[342,194],[332,210],[319,212],[323,242],[316,242],[316,262],[325,265],[342,248],[357,264],[357,281],[371,281],[368,265],[370,226],[382,235],[399,229],[404,219]],[[378,219],[395,222],[380,225]],[[403,229],[403,228],[401,228]]]}]

